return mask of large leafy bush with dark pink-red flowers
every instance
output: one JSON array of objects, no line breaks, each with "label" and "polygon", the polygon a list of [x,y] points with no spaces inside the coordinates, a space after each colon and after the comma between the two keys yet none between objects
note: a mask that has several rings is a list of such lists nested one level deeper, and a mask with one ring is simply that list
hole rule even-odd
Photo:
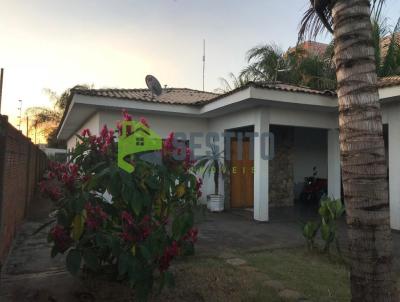
[{"label": "large leafy bush with dark pink-red flowers", "polygon": [[[132,117],[124,112],[124,119]],[[127,282],[145,300],[155,282],[173,283],[171,261],[194,251],[192,208],[201,181],[191,171],[189,149],[184,160],[172,156],[183,152],[174,148],[173,134],[163,143],[162,164],[133,157],[134,172],[125,172],[117,166],[115,133],[106,126],[99,136],[85,129],[70,163],[50,164],[40,187],[57,206],[51,255],[66,253],[72,274]]]}]

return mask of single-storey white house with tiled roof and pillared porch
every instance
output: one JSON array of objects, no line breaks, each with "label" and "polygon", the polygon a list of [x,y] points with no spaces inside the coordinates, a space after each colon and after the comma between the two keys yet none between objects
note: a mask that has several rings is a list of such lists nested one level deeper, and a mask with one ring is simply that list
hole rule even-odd
[{"label": "single-storey white house with tiled roof and pillared porch", "polygon": [[[379,95],[390,167],[391,224],[400,230],[400,77],[381,79]],[[187,136],[219,133],[236,137],[245,132],[273,133],[274,158],[263,156],[261,139],[254,140],[254,148],[243,144],[243,154],[253,155],[254,162],[232,159],[234,167],[220,186],[226,207],[251,207],[257,221],[268,221],[271,207],[292,206],[313,167],[319,177],[327,179],[328,195],[341,196],[338,100],[334,92],[282,83],[248,83],[223,95],[178,88],[166,88],[160,96],[147,89],[76,89],[58,138],[67,140],[71,149],[75,133],[84,128],[99,133],[104,124],[115,125],[121,120],[122,109],[134,118],[145,117],[162,138],[170,131]],[[194,150],[195,155],[206,152],[206,139],[204,135],[196,137],[201,148]],[[214,143],[221,150],[229,147],[230,154],[238,152],[233,139]],[[212,182],[206,180],[203,195],[212,191]]]}]

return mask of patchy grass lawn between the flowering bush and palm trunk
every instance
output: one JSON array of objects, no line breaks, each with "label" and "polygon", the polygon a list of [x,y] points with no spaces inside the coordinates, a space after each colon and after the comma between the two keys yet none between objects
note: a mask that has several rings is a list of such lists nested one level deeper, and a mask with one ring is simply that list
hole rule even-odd
[{"label": "patchy grass lawn between the flowering bush and palm trunk", "polygon": [[238,253],[227,257],[193,257],[178,262],[173,271],[176,288],[153,301],[299,301],[282,298],[295,291],[301,301],[350,301],[349,274],[334,257],[310,254],[303,248]]}]

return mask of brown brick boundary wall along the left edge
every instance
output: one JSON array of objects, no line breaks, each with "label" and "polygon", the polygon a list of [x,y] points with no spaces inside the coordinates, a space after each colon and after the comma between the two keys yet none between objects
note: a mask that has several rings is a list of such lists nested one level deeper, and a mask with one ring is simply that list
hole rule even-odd
[{"label": "brown brick boundary wall along the left edge", "polygon": [[46,155],[0,115],[0,266],[46,165]]}]

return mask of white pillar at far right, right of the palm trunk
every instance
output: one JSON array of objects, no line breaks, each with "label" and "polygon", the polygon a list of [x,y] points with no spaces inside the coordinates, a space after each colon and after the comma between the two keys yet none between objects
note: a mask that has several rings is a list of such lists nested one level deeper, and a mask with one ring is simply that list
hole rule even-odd
[{"label": "white pillar at far right, right of the palm trunk", "polygon": [[390,226],[400,230],[400,110],[389,113],[389,201]]}]

